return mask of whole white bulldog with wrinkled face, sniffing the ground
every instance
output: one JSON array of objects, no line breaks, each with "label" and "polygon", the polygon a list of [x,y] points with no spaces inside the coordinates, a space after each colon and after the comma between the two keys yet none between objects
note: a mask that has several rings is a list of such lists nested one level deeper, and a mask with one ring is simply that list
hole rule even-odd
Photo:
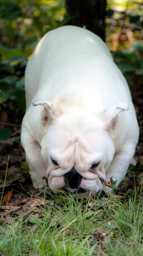
[{"label": "whole white bulldog with wrinkled face, sniffing the ground", "polygon": [[104,189],[124,179],[139,128],[130,91],[105,43],[87,29],[64,26],[38,43],[25,73],[21,141],[32,183]]}]

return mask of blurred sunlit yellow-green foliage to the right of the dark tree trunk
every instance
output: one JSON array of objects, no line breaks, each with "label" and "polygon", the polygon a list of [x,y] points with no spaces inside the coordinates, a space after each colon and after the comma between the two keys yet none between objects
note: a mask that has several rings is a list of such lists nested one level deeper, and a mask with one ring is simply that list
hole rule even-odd
[{"label": "blurred sunlit yellow-green foliage to the right of the dark tree trunk", "polygon": [[129,86],[143,83],[143,2],[108,0],[106,42]]}]

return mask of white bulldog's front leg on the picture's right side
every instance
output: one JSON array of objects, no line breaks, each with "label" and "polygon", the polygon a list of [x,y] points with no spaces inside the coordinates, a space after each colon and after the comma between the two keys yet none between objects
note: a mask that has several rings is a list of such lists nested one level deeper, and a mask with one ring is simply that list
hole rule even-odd
[{"label": "white bulldog's front leg on the picture's right side", "polygon": [[115,153],[113,161],[106,172],[106,182],[112,178],[116,181],[116,187],[124,179],[135,151],[135,144],[128,144]]}]

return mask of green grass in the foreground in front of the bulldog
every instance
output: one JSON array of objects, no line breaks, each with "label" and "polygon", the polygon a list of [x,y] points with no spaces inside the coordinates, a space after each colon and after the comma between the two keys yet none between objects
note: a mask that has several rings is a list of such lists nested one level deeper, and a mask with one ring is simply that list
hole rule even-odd
[{"label": "green grass in the foreground in front of the bulldog", "polygon": [[124,198],[89,194],[82,201],[61,192],[39,212],[42,218],[22,213],[11,225],[2,223],[0,255],[143,255],[143,197],[136,189]]}]

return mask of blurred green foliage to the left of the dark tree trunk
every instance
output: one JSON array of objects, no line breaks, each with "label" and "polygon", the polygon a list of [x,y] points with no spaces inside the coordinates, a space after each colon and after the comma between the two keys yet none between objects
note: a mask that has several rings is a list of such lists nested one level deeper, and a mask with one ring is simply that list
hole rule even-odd
[{"label": "blurred green foliage to the left of the dark tree trunk", "polygon": [[[38,40],[64,20],[64,1],[0,1],[0,102],[25,112],[24,69]],[[4,91],[4,94],[2,94]]]}]

